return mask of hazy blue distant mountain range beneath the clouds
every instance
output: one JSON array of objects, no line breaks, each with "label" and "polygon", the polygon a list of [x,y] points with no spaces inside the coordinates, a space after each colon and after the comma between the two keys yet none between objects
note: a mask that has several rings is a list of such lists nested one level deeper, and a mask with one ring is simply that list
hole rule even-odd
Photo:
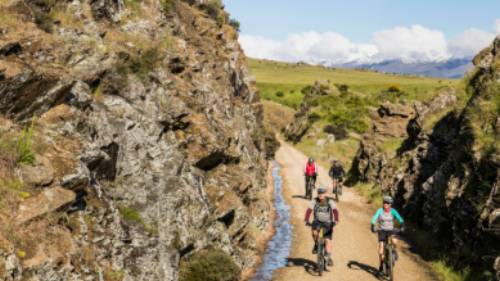
[{"label": "hazy blue distant mountain range beneath the clouds", "polygon": [[472,58],[451,59],[444,62],[404,63],[400,60],[374,64],[342,64],[335,67],[369,69],[386,73],[402,73],[442,78],[460,78],[472,68]]}]

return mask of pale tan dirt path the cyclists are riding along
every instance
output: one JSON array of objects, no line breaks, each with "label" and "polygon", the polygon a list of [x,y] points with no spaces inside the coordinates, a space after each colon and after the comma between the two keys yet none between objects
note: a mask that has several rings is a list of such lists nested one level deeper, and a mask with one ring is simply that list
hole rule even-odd
[{"label": "pale tan dirt path the cyclists are riding along", "polygon": [[[282,166],[285,197],[292,206],[294,237],[288,267],[278,270],[274,280],[378,280],[377,240],[369,230],[372,209],[359,195],[347,188],[344,188],[344,194],[337,205],[340,224],[335,228],[333,237],[332,256],[335,264],[323,277],[317,276],[314,271],[316,258],[311,253],[313,242],[310,228],[303,223],[309,203],[302,198],[303,165],[307,158],[283,143],[276,159]],[[318,181],[321,185],[330,186],[331,181],[323,167],[320,167]],[[401,242],[399,244],[400,258],[395,267],[395,280],[435,280],[428,266],[410,253],[407,245],[401,245]]]}]

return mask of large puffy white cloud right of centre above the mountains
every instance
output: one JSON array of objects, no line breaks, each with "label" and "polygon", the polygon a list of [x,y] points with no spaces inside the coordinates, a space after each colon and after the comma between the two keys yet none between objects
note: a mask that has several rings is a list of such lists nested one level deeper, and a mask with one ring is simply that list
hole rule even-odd
[{"label": "large puffy white cloud right of centre above the mountains", "polygon": [[373,42],[382,60],[415,63],[444,61],[451,57],[444,34],[421,25],[375,32]]}]

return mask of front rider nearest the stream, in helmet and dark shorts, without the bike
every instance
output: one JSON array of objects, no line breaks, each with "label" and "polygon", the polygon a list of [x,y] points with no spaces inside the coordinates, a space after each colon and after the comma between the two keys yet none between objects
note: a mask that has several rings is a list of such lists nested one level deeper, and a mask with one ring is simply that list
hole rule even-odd
[{"label": "front rider nearest the stream, in helmet and dark shorts, without the bike", "polygon": [[[314,219],[312,224],[309,223],[309,218],[311,213],[314,214]],[[330,198],[326,197],[326,188],[320,186],[318,188],[318,197],[311,201],[311,205],[306,211],[305,216],[306,225],[312,226],[312,237],[314,239],[313,254],[318,252],[318,235],[320,228],[323,228],[324,237],[326,242],[326,256],[328,258],[328,265],[333,265],[333,260],[331,257],[332,248],[332,234],[333,227],[339,223],[339,211],[335,205],[335,202]]]}]

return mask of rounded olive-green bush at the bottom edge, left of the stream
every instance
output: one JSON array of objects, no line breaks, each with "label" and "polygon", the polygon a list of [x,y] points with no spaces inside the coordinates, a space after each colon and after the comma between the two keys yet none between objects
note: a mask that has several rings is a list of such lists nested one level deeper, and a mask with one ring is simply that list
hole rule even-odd
[{"label": "rounded olive-green bush at the bottom edge, left of the stream", "polygon": [[241,270],[221,250],[203,250],[180,264],[180,281],[237,281]]}]

